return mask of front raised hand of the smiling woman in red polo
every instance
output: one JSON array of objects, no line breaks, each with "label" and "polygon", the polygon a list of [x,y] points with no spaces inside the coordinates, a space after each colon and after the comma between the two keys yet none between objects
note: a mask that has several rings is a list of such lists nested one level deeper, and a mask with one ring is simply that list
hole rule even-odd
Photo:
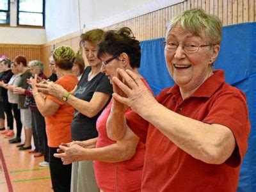
[{"label": "front raised hand of the smiling woman in red polo", "polygon": [[117,72],[124,79],[124,83],[118,77],[113,77],[112,81],[127,97],[122,97],[122,95],[115,92],[113,93],[114,99],[129,106],[139,115],[148,111],[154,104],[157,104],[157,100],[137,74],[131,70],[124,71],[121,68],[118,68]]}]

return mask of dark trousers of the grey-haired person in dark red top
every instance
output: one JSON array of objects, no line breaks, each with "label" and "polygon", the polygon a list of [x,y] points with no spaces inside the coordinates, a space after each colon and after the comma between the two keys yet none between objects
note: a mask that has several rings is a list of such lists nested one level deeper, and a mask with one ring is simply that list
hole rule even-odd
[{"label": "dark trousers of the grey-haired person in dark red top", "polygon": [[44,152],[45,120],[39,111],[31,111],[32,132],[36,152]]}]

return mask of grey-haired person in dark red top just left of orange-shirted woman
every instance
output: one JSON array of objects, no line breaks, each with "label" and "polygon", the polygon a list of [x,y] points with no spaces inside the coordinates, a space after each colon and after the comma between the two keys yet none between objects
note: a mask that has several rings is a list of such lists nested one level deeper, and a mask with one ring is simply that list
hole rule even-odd
[{"label": "grey-haired person in dark red top just left of orange-shirted woman", "polygon": [[[38,76],[38,79],[47,79],[44,74],[44,63],[38,60],[29,61],[28,66],[32,77]],[[32,115],[32,131],[35,143],[35,149],[30,150],[29,153],[34,154],[34,157],[44,156],[44,134],[45,134],[45,120],[44,116],[36,108],[36,102],[31,93],[31,85],[29,84],[28,90],[25,90],[25,106],[29,106]]]}]

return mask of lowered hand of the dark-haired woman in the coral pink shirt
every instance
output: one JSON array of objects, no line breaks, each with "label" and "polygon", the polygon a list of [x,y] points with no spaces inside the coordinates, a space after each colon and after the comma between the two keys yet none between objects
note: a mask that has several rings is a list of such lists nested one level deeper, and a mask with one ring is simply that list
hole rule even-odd
[{"label": "lowered hand of the dark-haired woman in the coral pink shirt", "polygon": [[[72,143],[72,142],[71,142]],[[84,150],[83,147],[74,144],[70,147],[60,145],[59,148],[63,151],[63,153],[60,154],[54,154],[54,157],[61,158],[61,161],[63,164],[70,164],[75,161],[81,161],[81,151]]]}]

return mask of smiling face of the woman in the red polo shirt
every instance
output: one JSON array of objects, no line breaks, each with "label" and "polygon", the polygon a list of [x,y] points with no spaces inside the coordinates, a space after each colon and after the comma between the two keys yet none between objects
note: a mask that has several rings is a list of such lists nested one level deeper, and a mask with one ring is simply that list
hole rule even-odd
[{"label": "smiling face of the woman in the red polo shirt", "polygon": [[173,80],[186,92],[195,90],[207,77],[211,76],[212,63],[218,56],[219,45],[214,45],[212,49],[209,49],[209,46],[200,47],[195,53],[184,52],[183,43],[207,44],[205,35],[201,36],[184,31],[177,25],[172,28],[166,38],[167,42],[172,40],[179,43],[176,51],[164,51],[164,56]]}]

